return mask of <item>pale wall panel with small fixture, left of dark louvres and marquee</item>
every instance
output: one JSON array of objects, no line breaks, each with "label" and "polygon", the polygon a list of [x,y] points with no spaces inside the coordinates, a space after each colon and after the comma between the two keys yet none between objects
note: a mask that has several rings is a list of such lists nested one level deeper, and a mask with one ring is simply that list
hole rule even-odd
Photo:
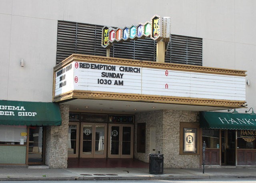
[{"label": "pale wall panel with small fixture, left of dark louvres and marquee", "polygon": [[8,100],[52,101],[56,25],[53,20],[12,16]]}]

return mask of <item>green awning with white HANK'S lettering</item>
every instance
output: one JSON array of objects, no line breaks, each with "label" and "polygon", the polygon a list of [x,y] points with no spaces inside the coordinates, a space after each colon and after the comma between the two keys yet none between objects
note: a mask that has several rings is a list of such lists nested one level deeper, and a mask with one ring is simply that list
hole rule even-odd
[{"label": "green awning with white HANK'S lettering", "polygon": [[256,115],[246,113],[200,112],[200,128],[256,130]]}]

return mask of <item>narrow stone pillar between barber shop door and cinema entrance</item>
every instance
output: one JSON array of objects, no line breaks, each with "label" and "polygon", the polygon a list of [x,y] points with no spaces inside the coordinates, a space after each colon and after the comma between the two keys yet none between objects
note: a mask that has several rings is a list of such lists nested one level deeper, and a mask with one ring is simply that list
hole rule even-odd
[{"label": "narrow stone pillar between barber shop door and cinema entrance", "polygon": [[48,126],[46,129],[45,164],[50,168],[67,168],[68,166],[68,121],[69,105],[60,105],[62,124]]}]

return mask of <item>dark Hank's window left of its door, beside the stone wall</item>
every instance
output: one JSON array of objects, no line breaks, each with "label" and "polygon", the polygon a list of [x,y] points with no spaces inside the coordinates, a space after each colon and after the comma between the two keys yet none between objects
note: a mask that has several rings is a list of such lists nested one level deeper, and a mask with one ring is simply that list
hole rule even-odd
[{"label": "dark Hank's window left of its door, beside the stone wall", "polygon": [[202,140],[206,148],[220,148],[220,131],[218,129],[203,129]]}]

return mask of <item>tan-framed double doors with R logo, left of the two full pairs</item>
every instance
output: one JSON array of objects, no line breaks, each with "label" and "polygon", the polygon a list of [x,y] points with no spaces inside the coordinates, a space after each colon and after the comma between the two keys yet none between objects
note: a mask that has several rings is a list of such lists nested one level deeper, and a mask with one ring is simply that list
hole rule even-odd
[{"label": "tan-framed double doors with R logo, left of the two full pairs", "polygon": [[106,124],[81,123],[80,157],[106,157]]}]

